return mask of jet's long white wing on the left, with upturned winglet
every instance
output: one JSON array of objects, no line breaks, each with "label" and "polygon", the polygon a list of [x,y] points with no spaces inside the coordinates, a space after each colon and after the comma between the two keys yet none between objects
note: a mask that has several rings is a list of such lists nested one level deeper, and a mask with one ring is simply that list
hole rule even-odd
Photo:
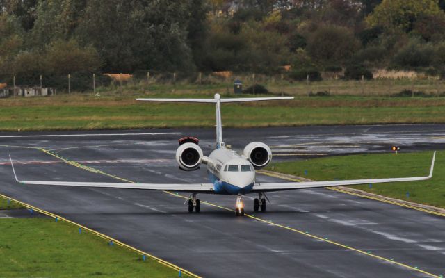
[{"label": "jet's long white wing on the left, with upturned winglet", "polygon": [[106,182],[76,182],[76,181],[20,181],[17,179],[13,160],[10,158],[15,180],[22,184],[42,185],[42,186],[77,186],[77,187],[102,187],[102,188],[125,188],[125,189],[145,189],[145,190],[168,190],[188,193],[213,193],[212,183],[106,183]]}]

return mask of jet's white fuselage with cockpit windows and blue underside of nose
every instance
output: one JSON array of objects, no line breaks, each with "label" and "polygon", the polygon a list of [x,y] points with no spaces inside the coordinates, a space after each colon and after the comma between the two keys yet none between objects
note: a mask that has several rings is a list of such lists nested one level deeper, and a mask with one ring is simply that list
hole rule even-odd
[{"label": "jet's white fuselage with cockpit windows and blue underside of nose", "polygon": [[232,149],[219,148],[211,152],[207,173],[213,192],[224,195],[250,193],[255,184],[253,165]]}]

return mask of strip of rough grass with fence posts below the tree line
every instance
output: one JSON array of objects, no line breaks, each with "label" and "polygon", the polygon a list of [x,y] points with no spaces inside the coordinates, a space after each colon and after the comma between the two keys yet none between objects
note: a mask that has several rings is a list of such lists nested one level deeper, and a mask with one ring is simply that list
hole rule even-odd
[{"label": "strip of rough grass with fence posts below the tree line", "polygon": [[[32,85],[23,85],[31,83]],[[180,90],[208,90],[280,95],[364,95],[391,97],[442,97],[445,81],[425,76],[345,80],[339,73],[323,73],[320,79],[293,79],[286,72],[280,74],[234,72],[158,72],[137,71],[133,74],[75,73],[67,76],[39,75],[31,81],[14,76],[13,83],[0,89],[0,97],[38,96],[88,92],[92,94],[138,93],[150,91],[175,92]]]}]

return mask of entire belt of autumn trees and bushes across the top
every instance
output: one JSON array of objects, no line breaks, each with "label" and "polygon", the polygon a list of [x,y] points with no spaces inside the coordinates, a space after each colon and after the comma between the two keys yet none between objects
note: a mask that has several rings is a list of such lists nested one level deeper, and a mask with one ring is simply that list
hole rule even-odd
[{"label": "entire belt of autumn trees and bushes across the top", "polygon": [[92,72],[445,75],[445,0],[0,0],[0,82]]}]

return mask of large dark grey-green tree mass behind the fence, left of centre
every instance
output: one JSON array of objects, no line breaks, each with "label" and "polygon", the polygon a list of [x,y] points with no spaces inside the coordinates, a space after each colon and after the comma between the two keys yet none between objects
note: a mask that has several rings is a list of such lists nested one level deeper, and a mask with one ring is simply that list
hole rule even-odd
[{"label": "large dark grey-green tree mass behind the fence, left of centre", "polygon": [[90,0],[77,35],[98,49],[106,71],[193,71],[188,8],[187,1]]}]

